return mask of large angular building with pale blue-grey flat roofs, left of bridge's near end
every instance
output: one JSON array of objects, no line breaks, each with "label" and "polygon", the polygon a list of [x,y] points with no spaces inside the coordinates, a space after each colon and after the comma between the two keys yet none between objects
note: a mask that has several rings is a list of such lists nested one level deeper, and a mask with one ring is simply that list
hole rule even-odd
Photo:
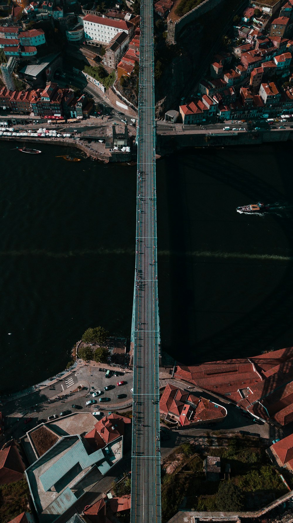
[{"label": "large angular building with pale blue-grey flat roofs, left of bridge's near end", "polygon": [[40,521],[54,521],[122,458],[122,437],[94,450],[79,435],[63,436],[25,471]]}]

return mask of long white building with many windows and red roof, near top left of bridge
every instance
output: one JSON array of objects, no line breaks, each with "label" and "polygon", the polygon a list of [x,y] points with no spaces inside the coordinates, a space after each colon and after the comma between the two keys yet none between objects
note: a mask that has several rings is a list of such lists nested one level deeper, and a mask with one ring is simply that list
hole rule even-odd
[{"label": "long white building with many windows and red roof, near top left of bridge", "polygon": [[125,31],[131,38],[134,32],[134,25],[131,22],[96,15],[86,15],[83,24],[85,39],[96,42],[109,43],[121,31]]}]

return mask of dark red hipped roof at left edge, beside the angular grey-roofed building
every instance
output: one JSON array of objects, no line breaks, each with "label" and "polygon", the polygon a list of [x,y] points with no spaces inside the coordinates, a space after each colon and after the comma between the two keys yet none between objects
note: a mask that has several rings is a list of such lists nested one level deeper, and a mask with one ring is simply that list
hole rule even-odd
[{"label": "dark red hipped roof at left edge, beside the angular grey-roofed building", "polygon": [[18,452],[17,446],[12,443],[4,450],[0,450],[0,485],[21,480],[24,477],[25,465]]}]

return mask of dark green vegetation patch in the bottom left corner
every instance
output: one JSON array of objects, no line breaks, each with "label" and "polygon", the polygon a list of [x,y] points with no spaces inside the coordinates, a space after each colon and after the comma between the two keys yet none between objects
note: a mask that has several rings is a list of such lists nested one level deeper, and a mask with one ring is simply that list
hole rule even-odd
[{"label": "dark green vegetation patch in the bottom left corner", "polygon": [[26,480],[0,485],[0,521],[7,523],[22,512],[29,512],[29,487]]}]

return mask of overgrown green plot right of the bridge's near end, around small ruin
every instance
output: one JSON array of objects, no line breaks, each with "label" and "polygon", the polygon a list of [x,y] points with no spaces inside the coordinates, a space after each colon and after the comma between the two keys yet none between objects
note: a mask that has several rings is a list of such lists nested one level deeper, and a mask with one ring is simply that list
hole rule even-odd
[{"label": "overgrown green plot right of the bridge's near end, around small ruin", "polygon": [[[212,437],[208,435],[208,439]],[[207,445],[207,452],[209,456],[220,457],[219,481],[206,481],[203,461],[207,453],[195,452],[196,447],[190,444],[181,445],[163,462],[163,523],[177,513],[183,501],[186,510],[237,511],[244,507],[253,510],[287,492],[258,438],[219,435],[213,436],[214,442],[215,439],[216,446]],[[172,463],[175,465],[173,471]],[[224,479],[228,464],[230,474],[226,473]]]}]

